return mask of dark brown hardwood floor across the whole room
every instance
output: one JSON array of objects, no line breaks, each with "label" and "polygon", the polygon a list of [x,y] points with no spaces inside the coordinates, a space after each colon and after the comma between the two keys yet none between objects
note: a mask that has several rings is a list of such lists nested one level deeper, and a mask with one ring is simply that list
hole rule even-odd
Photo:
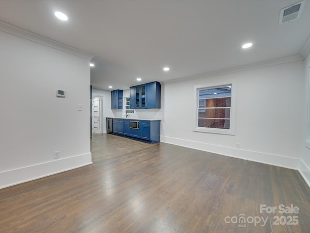
[{"label": "dark brown hardwood floor across the whole room", "polygon": [[0,232],[310,233],[296,170],[111,134],[91,147],[93,165],[1,189]]}]

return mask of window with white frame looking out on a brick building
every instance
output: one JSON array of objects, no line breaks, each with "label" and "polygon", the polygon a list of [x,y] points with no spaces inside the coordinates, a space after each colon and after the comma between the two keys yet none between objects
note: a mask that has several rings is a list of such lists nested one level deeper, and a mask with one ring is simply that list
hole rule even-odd
[{"label": "window with white frame looking out on a brick building", "polygon": [[232,84],[195,89],[194,131],[234,134]]}]

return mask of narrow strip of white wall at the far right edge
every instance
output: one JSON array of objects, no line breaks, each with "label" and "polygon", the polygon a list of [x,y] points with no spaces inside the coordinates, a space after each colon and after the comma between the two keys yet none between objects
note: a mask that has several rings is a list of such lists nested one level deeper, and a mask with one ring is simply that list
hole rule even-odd
[{"label": "narrow strip of white wall at the far right edge", "polygon": [[[304,89],[305,92],[307,92],[307,95],[305,99],[307,99],[305,105],[304,105],[304,131],[303,131],[303,140],[302,140],[302,158],[300,163],[300,173],[310,186],[310,142],[308,139],[307,142],[307,134],[309,135],[310,127],[307,127],[307,124],[309,125],[310,121],[310,54],[308,54],[307,58],[305,59],[305,75],[304,75]],[[307,112],[309,111],[309,115]],[[308,132],[307,132],[308,130]]]}]

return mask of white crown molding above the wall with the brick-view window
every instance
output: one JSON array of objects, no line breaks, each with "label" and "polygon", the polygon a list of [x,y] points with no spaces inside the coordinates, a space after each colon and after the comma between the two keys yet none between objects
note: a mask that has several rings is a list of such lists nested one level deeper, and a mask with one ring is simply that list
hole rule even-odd
[{"label": "white crown molding above the wall with the brick-view window", "polygon": [[222,69],[222,70],[211,71],[211,72],[207,72],[207,73],[203,73],[203,74],[188,76],[188,77],[184,77],[184,78],[168,80],[168,81],[164,81],[162,83],[175,83],[175,82],[180,82],[180,81],[208,78],[208,77],[213,77],[213,76],[218,76],[218,75],[223,75],[223,74],[245,71],[245,70],[249,70],[249,69],[270,67],[270,66],[276,66],[276,65],[290,63],[290,62],[297,62],[297,61],[302,61],[304,59],[305,58],[301,54],[298,54],[298,55],[294,55],[294,56],[288,56],[288,57],[278,58],[278,59],[274,59],[274,60],[253,63],[253,64],[244,65],[244,66],[232,67],[232,68],[227,68],[227,69]]}]

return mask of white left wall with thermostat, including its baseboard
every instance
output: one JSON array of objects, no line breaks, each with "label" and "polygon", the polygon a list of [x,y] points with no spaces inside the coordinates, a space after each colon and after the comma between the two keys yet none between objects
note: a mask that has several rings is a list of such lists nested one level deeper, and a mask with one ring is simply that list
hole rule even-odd
[{"label": "white left wall with thermostat, including its baseboard", "polygon": [[0,188],[91,164],[90,59],[2,30],[0,51]]}]

